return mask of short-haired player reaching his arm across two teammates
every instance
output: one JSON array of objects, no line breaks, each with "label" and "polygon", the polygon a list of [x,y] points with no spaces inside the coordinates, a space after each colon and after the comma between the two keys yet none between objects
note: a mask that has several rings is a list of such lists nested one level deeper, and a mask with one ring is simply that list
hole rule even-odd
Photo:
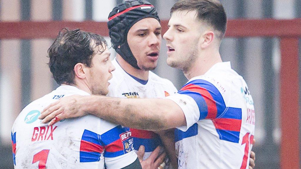
[{"label": "short-haired player reaching his arm across two teammates", "polygon": [[178,168],[247,168],[254,106],[244,79],[220,58],[225,11],[215,0],[180,0],[171,14],[163,36],[167,63],[189,80],[177,94],[133,100],[72,96],[45,108],[41,118],[48,115],[46,122],[91,113],[133,128],[177,127]]}]

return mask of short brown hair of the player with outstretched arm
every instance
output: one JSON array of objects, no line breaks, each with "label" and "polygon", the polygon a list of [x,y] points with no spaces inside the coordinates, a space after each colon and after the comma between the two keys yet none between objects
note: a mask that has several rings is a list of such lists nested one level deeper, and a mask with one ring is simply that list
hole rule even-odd
[{"label": "short brown hair of the player with outstretched arm", "polygon": [[223,5],[217,0],[179,0],[170,9],[170,15],[175,11],[197,11],[197,18],[221,34],[222,39],[226,32],[227,16]]}]

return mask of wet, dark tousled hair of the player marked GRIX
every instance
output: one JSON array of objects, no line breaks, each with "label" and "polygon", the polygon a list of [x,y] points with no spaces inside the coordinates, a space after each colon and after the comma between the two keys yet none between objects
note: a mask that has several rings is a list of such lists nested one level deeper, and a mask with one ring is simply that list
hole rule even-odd
[{"label": "wet, dark tousled hair of the player marked GRIX", "polygon": [[74,66],[82,63],[91,67],[93,54],[106,49],[103,44],[107,46],[101,35],[80,29],[62,29],[48,49],[48,66],[57,84],[74,84]]}]

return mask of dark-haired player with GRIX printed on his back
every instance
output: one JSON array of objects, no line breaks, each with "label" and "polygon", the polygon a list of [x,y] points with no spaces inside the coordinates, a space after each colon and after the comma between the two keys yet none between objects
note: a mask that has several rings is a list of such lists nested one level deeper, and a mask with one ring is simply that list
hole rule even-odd
[{"label": "dark-haired player with GRIX printed on his back", "polygon": [[[14,168],[140,168],[129,128],[93,115],[47,126],[38,119],[48,104],[66,96],[106,95],[115,67],[107,42],[97,34],[63,29],[48,49],[59,86],[33,101],[12,128]],[[59,120],[59,119],[57,119]]]}]

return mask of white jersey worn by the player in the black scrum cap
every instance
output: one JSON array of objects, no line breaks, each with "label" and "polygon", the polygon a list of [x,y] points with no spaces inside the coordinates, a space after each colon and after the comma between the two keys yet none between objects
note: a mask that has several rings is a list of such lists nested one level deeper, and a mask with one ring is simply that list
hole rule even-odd
[{"label": "white jersey worn by the player in the black scrum cap", "polygon": [[[120,98],[164,98],[169,94],[174,94],[178,90],[171,81],[161,78],[153,72],[149,72],[148,80],[138,79],[125,72],[117,63],[116,58],[112,60],[116,67],[112,72],[113,78],[109,81],[108,96]],[[157,146],[162,145],[160,137],[152,131],[132,129],[134,138],[134,149],[138,151],[139,147],[145,147],[145,160]]]}]

